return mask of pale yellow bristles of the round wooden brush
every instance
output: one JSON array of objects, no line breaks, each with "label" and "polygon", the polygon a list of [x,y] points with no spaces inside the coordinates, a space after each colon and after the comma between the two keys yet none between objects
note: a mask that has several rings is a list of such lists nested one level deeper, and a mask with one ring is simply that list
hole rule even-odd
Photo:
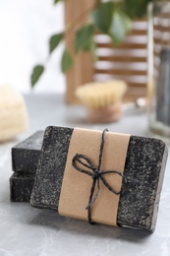
[{"label": "pale yellow bristles of the round wooden brush", "polygon": [[89,108],[102,108],[120,101],[126,90],[126,83],[120,80],[93,82],[78,88],[76,96]]}]

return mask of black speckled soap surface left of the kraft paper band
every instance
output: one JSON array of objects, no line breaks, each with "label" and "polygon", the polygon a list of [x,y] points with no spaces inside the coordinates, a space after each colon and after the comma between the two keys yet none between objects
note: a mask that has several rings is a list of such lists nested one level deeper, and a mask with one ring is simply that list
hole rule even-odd
[{"label": "black speckled soap surface left of the kraft paper band", "polygon": [[42,208],[58,209],[64,169],[72,137],[71,128],[46,129],[42,159],[35,177],[31,203]]}]

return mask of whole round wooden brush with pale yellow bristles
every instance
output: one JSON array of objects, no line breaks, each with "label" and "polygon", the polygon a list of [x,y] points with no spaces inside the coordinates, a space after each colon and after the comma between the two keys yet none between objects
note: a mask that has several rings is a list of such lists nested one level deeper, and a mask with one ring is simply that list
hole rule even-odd
[{"label": "whole round wooden brush with pale yellow bristles", "polygon": [[113,122],[122,116],[122,98],[127,90],[124,81],[89,83],[77,89],[76,96],[87,108],[89,122]]}]

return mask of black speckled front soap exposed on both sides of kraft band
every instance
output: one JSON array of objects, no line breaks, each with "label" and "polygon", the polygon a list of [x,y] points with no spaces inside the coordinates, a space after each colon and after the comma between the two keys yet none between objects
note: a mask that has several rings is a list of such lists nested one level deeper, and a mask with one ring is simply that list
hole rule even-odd
[{"label": "black speckled front soap exposed on both sides of kraft band", "polygon": [[[73,129],[47,127],[42,158],[36,172],[30,204],[58,209],[63,174]],[[98,150],[98,149],[97,149]],[[156,139],[131,136],[125,163],[117,224],[152,231],[168,150]]]}]

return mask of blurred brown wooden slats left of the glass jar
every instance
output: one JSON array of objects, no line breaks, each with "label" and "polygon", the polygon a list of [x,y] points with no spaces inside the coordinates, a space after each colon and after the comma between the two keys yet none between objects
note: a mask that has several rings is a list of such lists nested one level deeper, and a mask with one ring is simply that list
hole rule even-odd
[{"label": "blurred brown wooden slats left of the glass jar", "polygon": [[135,21],[133,30],[120,46],[113,46],[110,38],[97,34],[97,62],[94,80],[125,80],[129,86],[127,96],[146,95],[147,82],[147,25],[145,20]]}]

